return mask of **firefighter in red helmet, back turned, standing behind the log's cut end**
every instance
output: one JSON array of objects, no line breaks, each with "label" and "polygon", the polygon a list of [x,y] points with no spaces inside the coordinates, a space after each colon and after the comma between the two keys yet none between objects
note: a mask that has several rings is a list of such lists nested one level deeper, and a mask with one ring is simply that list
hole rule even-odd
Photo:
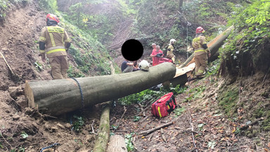
[{"label": "firefighter in red helmet, back turned, standing behind the log's cut end", "polygon": [[[46,15],[46,27],[41,30],[39,37],[39,49],[42,61],[49,58],[51,65],[51,75],[53,79],[68,78],[68,56],[70,39],[63,27],[58,26],[59,20],[56,15]],[[46,53],[46,56],[45,56]]]}]

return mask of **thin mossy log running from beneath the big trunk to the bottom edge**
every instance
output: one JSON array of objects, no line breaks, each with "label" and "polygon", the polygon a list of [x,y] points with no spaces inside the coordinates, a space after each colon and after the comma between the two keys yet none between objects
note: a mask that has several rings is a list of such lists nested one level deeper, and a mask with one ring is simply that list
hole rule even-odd
[{"label": "thin mossy log running from beneath the big trunk to the bottom edge", "polygon": [[110,137],[110,105],[108,102],[101,113],[101,122],[98,127],[98,139],[95,141],[94,152],[105,152]]}]

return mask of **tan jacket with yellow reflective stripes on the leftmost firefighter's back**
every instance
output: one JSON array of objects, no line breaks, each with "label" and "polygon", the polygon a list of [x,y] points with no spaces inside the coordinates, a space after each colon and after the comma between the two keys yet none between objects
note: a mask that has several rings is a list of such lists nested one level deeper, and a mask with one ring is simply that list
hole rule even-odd
[{"label": "tan jacket with yellow reflective stripes on the leftmost firefighter's back", "polygon": [[46,49],[40,53],[46,53],[48,58],[55,56],[67,56],[65,43],[70,42],[67,32],[63,27],[47,26],[41,30],[39,42],[45,42]]}]

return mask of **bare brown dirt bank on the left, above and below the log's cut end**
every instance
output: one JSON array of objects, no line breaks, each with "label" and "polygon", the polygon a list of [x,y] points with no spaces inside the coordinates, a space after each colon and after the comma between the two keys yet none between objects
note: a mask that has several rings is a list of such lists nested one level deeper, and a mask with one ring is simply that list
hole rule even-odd
[{"label": "bare brown dirt bank on the left, above and below the log's cut end", "polygon": [[[84,119],[84,129],[78,133],[72,129],[72,122],[77,122],[77,118],[68,115],[56,119],[26,108],[25,80],[52,79],[49,63],[41,61],[38,49],[45,17],[38,1],[32,1],[25,6],[12,6],[0,25],[0,51],[19,78],[12,77],[0,56],[0,151],[36,152],[55,143],[63,145],[58,151],[82,151],[82,148],[93,147],[95,135],[88,131],[91,126],[97,128],[99,120],[93,122],[98,118],[96,114],[85,114],[88,116]],[[37,65],[41,65],[42,70]]]}]

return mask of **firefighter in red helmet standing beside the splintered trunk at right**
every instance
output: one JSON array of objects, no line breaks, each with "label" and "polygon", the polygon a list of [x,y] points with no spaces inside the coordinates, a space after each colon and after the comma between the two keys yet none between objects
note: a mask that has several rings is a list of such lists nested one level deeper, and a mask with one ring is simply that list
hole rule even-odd
[{"label": "firefighter in red helmet standing beside the splintered trunk at right", "polygon": [[[195,59],[195,77],[203,78],[203,73],[205,68],[207,68],[208,57],[211,56],[210,50],[207,47],[207,42],[205,36],[203,36],[203,27],[198,27],[196,29],[195,38],[192,41],[192,46],[194,48],[194,59]],[[208,56],[207,56],[208,53]]]}]

